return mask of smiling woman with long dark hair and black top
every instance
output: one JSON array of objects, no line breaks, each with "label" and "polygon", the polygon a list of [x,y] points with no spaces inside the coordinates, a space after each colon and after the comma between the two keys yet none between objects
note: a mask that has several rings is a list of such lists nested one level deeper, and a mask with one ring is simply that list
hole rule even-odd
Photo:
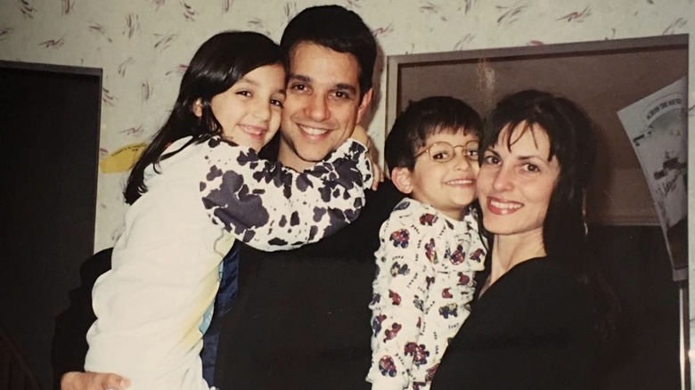
[{"label": "smiling woman with long dark hair and black top", "polygon": [[600,386],[598,306],[609,300],[583,217],[594,150],[585,113],[550,93],[514,93],[490,112],[478,175],[487,272],[432,389]]}]

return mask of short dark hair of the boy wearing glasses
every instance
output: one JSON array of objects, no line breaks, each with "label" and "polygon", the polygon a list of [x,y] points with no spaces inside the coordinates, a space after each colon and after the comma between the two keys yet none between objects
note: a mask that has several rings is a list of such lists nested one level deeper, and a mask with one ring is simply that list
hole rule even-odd
[{"label": "short dark hair of the boy wearing glasses", "polygon": [[479,137],[481,122],[476,110],[451,96],[430,96],[410,103],[386,137],[384,159],[388,171],[397,167],[413,170],[415,154],[433,134],[462,132]]}]

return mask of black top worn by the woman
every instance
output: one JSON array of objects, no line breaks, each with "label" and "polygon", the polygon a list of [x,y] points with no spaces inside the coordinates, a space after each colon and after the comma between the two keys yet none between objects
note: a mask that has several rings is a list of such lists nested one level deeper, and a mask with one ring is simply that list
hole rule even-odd
[{"label": "black top worn by the woman", "polygon": [[497,280],[449,344],[432,390],[599,388],[592,296],[551,257]]}]

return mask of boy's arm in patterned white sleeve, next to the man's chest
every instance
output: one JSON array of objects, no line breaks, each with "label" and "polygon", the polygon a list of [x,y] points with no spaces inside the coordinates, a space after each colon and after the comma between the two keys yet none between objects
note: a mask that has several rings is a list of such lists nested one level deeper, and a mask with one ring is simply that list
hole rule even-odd
[{"label": "boy's arm in patterned white sleeve, next to the man's chest", "polygon": [[[379,273],[370,304],[372,368],[368,378],[373,389],[402,389],[410,382],[407,371],[423,351],[419,334],[434,269],[419,260],[424,253],[423,237],[413,225],[392,215],[382,226],[380,239]],[[413,353],[405,353],[406,348]]]}]

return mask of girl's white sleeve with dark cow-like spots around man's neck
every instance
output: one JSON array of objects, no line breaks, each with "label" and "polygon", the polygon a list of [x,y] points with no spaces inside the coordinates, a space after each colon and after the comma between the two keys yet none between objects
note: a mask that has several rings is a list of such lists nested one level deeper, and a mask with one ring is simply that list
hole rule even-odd
[{"label": "girl's white sleeve with dark cow-like spots around man's neck", "polygon": [[359,215],[372,185],[366,148],[352,139],[301,173],[217,137],[207,142],[203,205],[214,223],[260,250],[297,248],[337,232]]}]

